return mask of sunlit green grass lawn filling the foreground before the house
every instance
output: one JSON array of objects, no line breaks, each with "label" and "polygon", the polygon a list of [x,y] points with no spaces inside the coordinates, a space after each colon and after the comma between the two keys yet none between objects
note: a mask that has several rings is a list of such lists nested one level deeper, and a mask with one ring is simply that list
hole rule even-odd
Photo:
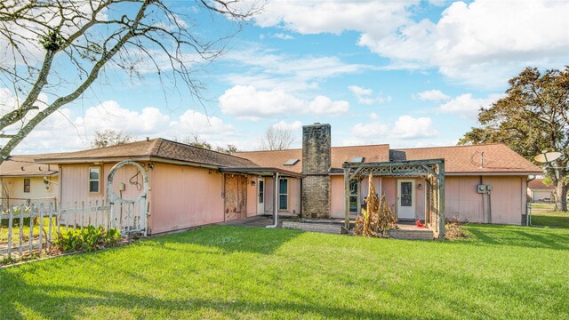
[{"label": "sunlit green grass lawn filling the foreground before the house", "polygon": [[0,319],[569,318],[569,229],[403,241],[209,227],[0,269]]}]

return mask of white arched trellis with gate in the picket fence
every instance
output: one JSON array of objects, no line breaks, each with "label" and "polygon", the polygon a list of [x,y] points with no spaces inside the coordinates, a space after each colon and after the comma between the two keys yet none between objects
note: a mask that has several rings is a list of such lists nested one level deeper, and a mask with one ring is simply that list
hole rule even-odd
[{"label": "white arched trellis with gate in the picket fence", "polygon": [[[142,190],[133,199],[124,199],[113,190],[115,173],[125,165],[134,166],[142,174]],[[144,167],[126,160],[115,164],[107,178],[107,199],[109,204],[110,228],[118,228],[122,234],[141,233],[147,236],[148,174]]]}]

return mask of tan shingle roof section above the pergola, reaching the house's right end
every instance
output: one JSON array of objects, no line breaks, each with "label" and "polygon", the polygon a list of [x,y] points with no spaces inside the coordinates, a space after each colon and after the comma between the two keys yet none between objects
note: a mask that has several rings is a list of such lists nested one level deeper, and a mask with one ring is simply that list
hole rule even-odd
[{"label": "tan shingle roof section above the pergola, reaching the house's right end", "polygon": [[390,154],[392,161],[443,158],[445,159],[445,173],[540,174],[543,172],[540,167],[501,143],[438,148],[402,148],[393,149]]}]

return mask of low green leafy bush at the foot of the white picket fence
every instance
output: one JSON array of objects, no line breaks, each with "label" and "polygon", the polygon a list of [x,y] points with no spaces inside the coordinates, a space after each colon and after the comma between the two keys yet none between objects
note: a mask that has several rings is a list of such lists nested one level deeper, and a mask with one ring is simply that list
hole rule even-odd
[{"label": "low green leafy bush at the foot of the white picket fence", "polygon": [[58,233],[54,241],[61,252],[92,252],[104,247],[115,245],[121,239],[121,233],[117,228],[105,230],[102,227],[78,228],[63,230]]}]

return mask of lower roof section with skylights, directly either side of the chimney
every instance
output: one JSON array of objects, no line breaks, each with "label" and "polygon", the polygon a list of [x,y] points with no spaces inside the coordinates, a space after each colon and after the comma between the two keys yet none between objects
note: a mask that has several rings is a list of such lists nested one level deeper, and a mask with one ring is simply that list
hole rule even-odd
[{"label": "lower roof section with skylights, directly either side of the chimney", "polygon": [[[352,147],[333,147],[330,150],[332,159],[331,167],[341,169],[341,164],[349,162],[353,156],[363,156],[364,163],[389,161],[389,145],[370,145]],[[287,149],[275,151],[246,151],[237,152],[253,163],[263,167],[273,167],[291,172],[302,172],[302,149]],[[284,165],[290,159],[299,159],[296,164]]]}]

